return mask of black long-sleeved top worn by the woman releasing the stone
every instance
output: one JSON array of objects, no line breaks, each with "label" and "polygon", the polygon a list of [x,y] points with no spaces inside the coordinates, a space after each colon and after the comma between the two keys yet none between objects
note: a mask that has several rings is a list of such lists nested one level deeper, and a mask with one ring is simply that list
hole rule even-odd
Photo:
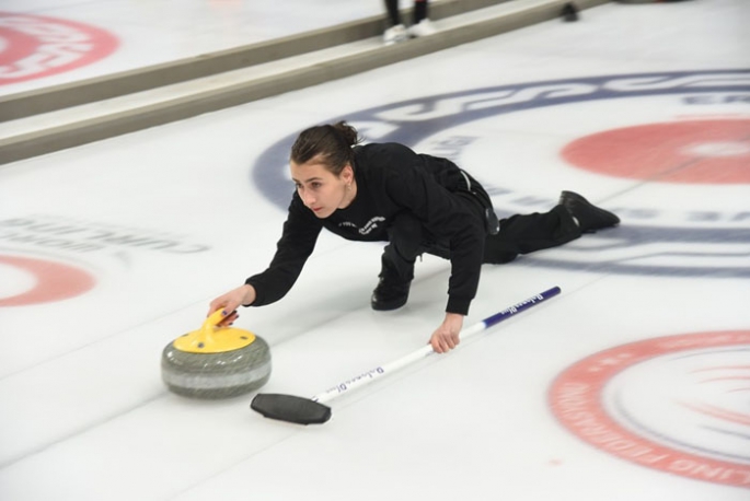
[{"label": "black long-sleeved top worn by the woman releasing the stone", "polygon": [[295,193],[268,269],[245,281],[256,291],[253,305],[284,298],[312,254],[321,229],[353,241],[388,241],[393,218],[409,211],[427,232],[448,244],[451,277],[446,311],[465,315],[476,294],[485,240],[481,209],[466,201],[466,184],[486,197],[484,189],[449,160],[417,154],[397,143],[355,147],[354,172],[356,198],[326,219],[315,217]]}]

